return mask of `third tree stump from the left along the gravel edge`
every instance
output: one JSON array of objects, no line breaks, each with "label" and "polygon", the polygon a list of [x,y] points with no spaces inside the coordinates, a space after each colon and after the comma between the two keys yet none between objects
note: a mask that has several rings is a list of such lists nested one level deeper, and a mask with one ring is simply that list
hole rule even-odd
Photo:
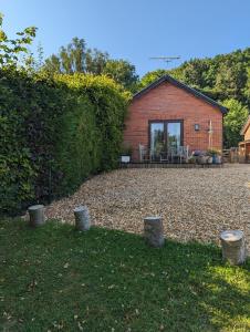
[{"label": "third tree stump from the left along the gravel edge", "polygon": [[152,247],[164,246],[164,227],[162,217],[144,218],[144,238]]}]

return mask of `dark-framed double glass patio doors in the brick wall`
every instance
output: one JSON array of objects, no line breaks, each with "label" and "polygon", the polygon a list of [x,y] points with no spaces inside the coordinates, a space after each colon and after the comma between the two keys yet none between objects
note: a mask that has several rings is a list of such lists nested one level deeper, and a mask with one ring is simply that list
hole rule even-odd
[{"label": "dark-framed double glass patio doors in the brick wall", "polygon": [[160,155],[175,155],[181,143],[183,123],[180,121],[162,121],[150,123],[150,156],[153,160]]}]

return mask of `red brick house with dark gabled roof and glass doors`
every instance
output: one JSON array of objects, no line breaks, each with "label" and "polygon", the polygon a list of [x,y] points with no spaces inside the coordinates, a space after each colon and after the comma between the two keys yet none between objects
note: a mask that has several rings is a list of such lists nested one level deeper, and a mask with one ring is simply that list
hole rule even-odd
[{"label": "red brick house with dark gabled roof and glass doors", "polygon": [[222,149],[222,122],[227,108],[187,86],[164,75],[136,93],[128,107],[124,143],[133,149],[133,160],[139,159],[139,146],[153,155],[173,147],[192,151]]}]

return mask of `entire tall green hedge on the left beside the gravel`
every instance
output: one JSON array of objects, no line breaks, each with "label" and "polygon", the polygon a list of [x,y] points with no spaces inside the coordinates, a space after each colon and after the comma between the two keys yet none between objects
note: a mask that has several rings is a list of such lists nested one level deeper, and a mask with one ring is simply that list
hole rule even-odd
[{"label": "entire tall green hedge on the left beside the gravel", "polygon": [[105,76],[0,72],[0,212],[116,167],[129,95]]}]

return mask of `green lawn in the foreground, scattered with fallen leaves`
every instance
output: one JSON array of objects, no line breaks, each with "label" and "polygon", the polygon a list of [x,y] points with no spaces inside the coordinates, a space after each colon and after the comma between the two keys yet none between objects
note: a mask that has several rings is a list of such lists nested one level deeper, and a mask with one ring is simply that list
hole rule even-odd
[{"label": "green lawn in the foreground, scattered with fallen leaves", "polygon": [[0,222],[0,331],[250,331],[250,261],[220,249]]}]

